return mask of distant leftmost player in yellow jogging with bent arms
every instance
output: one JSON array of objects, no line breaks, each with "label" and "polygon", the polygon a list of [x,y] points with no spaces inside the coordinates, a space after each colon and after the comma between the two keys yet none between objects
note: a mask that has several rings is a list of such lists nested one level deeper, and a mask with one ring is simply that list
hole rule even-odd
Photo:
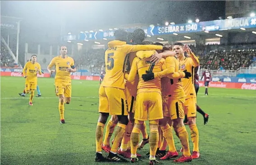
[{"label": "distant leftmost player in yellow jogging with bent arms", "polygon": [[41,66],[37,62],[37,55],[31,56],[31,61],[28,61],[22,71],[25,82],[25,91],[28,94],[30,92],[29,97],[29,105],[33,106],[32,100],[34,97],[35,89],[37,89],[37,73],[42,75]]}]

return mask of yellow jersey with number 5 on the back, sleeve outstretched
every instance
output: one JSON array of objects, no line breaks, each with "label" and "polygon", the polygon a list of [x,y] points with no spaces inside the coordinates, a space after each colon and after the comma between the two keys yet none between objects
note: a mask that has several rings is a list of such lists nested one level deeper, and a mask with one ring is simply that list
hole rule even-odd
[{"label": "yellow jersey with number 5 on the back, sleeve outstretched", "polygon": [[161,50],[161,45],[128,45],[124,41],[113,40],[108,42],[105,51],[105,77],[101,86],[125,89],[124,72],[128,54],[139,50]]}]

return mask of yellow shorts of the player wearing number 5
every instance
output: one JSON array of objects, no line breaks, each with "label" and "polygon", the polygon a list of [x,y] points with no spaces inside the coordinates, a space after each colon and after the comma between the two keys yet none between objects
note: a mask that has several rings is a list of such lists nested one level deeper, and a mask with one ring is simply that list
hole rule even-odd
[{"label": "yellow shorts of the player wearing number 5", "polygon": [[127,116],[128,107],[124,89],[100,86],[99,112]]}]

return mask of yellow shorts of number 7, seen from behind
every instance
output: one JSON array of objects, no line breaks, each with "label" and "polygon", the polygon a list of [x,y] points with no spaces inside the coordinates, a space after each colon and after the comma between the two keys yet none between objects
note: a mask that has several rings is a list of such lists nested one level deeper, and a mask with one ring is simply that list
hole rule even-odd
[{"label": "yellow shorts of number 7, seen from behind", "polygon": [[158,120],[163,119],[162,96],[158,92],[141,92],[137,94],[134,119]]}]

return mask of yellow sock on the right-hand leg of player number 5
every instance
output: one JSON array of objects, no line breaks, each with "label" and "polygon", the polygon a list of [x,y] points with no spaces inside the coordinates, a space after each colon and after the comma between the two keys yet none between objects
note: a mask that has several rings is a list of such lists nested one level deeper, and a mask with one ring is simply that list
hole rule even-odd
[{"label": "yellow sock on the right-hand leg of player number 5", "polygon": [[119,144],[121,143],[121,140],[124,137],[125,132],[126,132],[126,125],[118,123],[115,137],[114,137],[114,143],[111,148],[111,152],[114,152],[114,153],[117,152]]}]

